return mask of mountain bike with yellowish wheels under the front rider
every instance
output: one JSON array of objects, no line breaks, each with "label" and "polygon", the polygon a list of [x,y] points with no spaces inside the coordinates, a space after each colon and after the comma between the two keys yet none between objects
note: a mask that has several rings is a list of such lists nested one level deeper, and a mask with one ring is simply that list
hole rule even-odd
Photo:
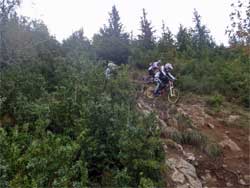
[{"label": "mountain bike with yellowish wheels under the front rider", "polygon": [[[147,89],[145,89],[144,94],[148,98],[153,99],[156,97],[154,95],[154,90],[155,90],[154,86],[150,85]],[[166,93],[168,97],[168,102],[170,102],[171,104],[175,104],[178,102],[180,98],[180,91],[174,87],[174,83],[171,80],[169,80],[168,84],[166,84],[165,87],[160,90],[159,96],[164,96],[166,95]]]}]

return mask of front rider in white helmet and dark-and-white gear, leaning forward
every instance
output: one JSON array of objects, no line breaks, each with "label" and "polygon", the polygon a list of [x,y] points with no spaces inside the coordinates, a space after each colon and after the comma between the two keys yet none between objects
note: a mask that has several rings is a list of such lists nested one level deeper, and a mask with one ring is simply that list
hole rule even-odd
[{"label": "front rider in white helmet and dark-and-white gear, leaning forward", "polygon": [[155,74],[154,80],[156,82],[156,87],[154,90],[154,95],[159,96],[160,91],[166,86],[169,80],[176,80],[176,78],[171,74],[170,71],[173,70],[173,66],[170,63],[162,65],[160,70]]}]

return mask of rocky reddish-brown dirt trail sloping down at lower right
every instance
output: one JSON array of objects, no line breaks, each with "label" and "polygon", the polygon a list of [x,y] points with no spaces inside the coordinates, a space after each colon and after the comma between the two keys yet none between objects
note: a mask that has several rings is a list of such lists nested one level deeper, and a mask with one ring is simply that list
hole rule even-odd
[{"label": "rocky reddish-brown dirt trail sloping down at lower right", "polygon": [[250,114],[226,103],[218,110],[204,97],[148,99],[138,85],[137,106],[155,113],[166,153],[167,187],[250,187]]}]

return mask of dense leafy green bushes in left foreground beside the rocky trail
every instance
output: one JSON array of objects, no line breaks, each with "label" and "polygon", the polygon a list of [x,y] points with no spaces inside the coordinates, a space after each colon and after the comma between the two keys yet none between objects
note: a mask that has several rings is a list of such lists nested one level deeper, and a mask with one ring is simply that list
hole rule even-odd
[{"label": "dense leafy green bushes in left foreground beside the rocky trail", "polygon": [[1,128],[2,185],[134,187],[141,178],[162,185],[160,133],[153,117],[136,111],[127,68],[105,80],[88,61],[53,65],[52,90],[49,64],[1,71],[1,113],[16,120]]}]

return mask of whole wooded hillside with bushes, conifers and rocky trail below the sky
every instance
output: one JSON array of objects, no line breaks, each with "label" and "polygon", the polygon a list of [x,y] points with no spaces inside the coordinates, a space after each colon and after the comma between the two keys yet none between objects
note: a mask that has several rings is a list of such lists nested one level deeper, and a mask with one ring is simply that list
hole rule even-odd
[{"label": "whole wooded hillside with bushes, conifers and rocky trail below the sky", "polygon": [[[250,1],[231,4],[228,46],[196,9],[157,37],[142,8],[133,36],[114,5],[91,39],[58,41],[21,3],[0,0],[0,188],[249,187]],[[156,61],[175,104],[145,95]]]}]

